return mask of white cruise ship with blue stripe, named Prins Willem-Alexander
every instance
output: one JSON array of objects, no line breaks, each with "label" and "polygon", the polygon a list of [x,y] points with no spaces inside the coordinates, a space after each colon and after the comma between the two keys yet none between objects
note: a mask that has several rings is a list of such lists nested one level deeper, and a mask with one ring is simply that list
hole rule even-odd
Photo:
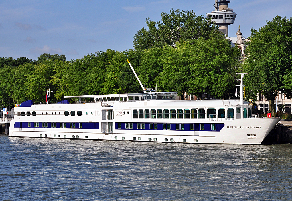
[{"label": "white cruise ship with blue stripe, named Prins Willem-Alexander", "polygon": [[8,136],[260,144],[281,118],[252,114],[252,104],[242,97],[243,77],[244,73],[239,100],[179,100],[175,92],[147,92],[142,84],[142,93],[65,96],[94,102],[33,104],[28,100],[14,108]]}]

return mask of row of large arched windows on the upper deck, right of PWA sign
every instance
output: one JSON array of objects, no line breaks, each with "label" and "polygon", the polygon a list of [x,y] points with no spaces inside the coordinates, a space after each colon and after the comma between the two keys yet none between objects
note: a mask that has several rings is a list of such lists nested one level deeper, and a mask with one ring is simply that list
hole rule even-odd
[{"label": "row of large arched windows on the upper deck, right of PWA sign", "polygon": [[[227,118],[233,118],[234,110],[229,108],[227,110]],[[217,113],[215,109],[207,109],[207,119],[216,118]],[[205,109],[161,109],[158,110],[133,110],[133,119],[205,119]],[[225,109],[218,110],[218,118],[225,119]]]}]

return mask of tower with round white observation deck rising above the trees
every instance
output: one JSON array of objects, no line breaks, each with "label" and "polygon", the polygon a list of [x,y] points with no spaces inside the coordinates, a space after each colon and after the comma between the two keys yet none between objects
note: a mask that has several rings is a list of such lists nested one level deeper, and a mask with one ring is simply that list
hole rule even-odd
[{"label": "tower with round white observation deck rising above the trees", "polygon": [[219,31],[228,37],[228,25],[234,23],[236,13],[228,7],[230,0],[215,0],[215,11],[207,13],[208,18],[211,18],[213,23],[219,26]]}]

